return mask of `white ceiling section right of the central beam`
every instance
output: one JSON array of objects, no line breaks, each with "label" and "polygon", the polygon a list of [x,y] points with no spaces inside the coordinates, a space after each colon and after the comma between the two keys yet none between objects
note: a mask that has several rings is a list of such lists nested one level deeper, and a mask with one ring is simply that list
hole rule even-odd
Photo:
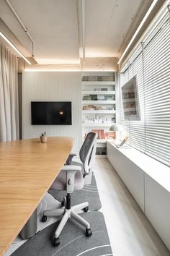
[{"label": "white ceiling section right of the central beam", "polygon": [[86,56],[120,56],[120,47],[136,17],[141,19],[143,0],[86,0]]}]

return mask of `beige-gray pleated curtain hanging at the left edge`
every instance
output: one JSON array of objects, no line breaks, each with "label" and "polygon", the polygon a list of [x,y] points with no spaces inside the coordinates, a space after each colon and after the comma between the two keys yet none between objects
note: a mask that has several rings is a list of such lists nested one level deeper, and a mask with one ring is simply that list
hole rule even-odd
[{"label": "beige-gray pleated curtain hanging at the left edge", "polygon": [[0,141],[18,139],[18,58],[0,44]]}]

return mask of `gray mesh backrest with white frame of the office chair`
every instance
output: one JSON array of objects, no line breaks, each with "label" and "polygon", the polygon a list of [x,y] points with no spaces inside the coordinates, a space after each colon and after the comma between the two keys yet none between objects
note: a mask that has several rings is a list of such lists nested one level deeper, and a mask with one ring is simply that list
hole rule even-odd
[{"label": "gray mesh backrest with white frame of the office chair", "polygon": [[96,153],[97,134],[95,132],[89,132],[86,135],[83,145],[79,153],[81,162],[84,164],[84,171],[89,174],[89,169],[94,163],[94,156]]}]

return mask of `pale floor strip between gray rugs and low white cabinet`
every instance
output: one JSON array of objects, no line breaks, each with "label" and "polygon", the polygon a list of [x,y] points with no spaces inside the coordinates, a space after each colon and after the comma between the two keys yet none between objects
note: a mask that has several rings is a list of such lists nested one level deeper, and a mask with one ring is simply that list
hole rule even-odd
[{"label": "pale floor strip between gray rugs and low white cabinet", "polygon": [[94,174],[113,255],[170,255],[107,158],[97,158]]}]

